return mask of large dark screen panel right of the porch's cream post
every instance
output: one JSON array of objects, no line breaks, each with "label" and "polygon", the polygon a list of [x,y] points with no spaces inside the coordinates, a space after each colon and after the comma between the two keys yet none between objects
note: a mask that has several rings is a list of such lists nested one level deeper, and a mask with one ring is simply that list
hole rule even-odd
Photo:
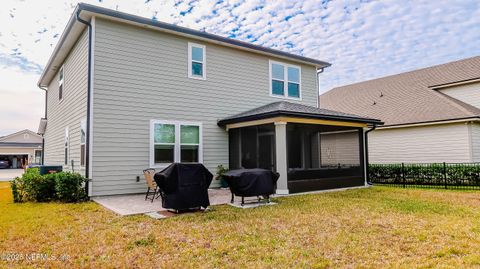
[{"label": "large dark screen panel right of the porch's cream post", "polygon": [[361,129],[287,124],[289,180],[362,177]]}]

